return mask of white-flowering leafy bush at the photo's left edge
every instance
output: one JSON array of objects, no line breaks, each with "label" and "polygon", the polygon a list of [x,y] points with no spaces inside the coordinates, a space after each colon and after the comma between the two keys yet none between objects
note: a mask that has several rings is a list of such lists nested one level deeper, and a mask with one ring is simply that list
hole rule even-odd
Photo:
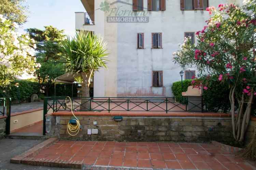
[{"label": "white-flowering leafy bush at the photo's left edge", "polygon": [[17,24],[0,15],[0,88],[5,89],[17,76],[32,73],[36,67],[34,40],[16,32]]}]

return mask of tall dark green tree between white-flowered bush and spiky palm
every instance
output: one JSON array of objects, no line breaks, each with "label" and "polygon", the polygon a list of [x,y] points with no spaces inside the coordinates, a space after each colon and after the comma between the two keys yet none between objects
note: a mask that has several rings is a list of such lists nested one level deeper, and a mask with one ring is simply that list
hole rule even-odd
[{"label": "tall dark green tree between white-flowered bush and spiky palm", "polygon": [[53,26],[45,26],[45,30],[30,28],[26,31],[37,44],[37,62],[41,65],[35,71],[40,88],[49,95],[49,89],[53,84],[54,78],[65,73],[65,64],[61,58],[62,47],[60,42],[64,40],[63,30],[58,30]]}]

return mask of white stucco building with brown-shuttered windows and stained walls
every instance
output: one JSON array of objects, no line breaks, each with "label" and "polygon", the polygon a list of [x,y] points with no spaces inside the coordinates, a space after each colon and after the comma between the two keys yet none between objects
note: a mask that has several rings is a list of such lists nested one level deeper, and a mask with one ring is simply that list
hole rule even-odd
[{"label": "white stucco building with brown-shuttered windows and stained walls", "polygon": [[[106,41],[108,69],[94,76],[95,97],[165,96],[181,80],[173,62],[185,35],[195,35],[209,19],[207,6],[242,0],[81,0],[75,29],[93,31]],[[204,9],[204,10],[203,10]],[[137,18],[134,18],[137,15]],[[141,34],[140,34],[141,33]],[[156,33],[156,34],[155,34]],[[195,40],[196,43],[196,40]],[[193,68],[184,77],[191,77]],[[185,74],[186,74],[186,71]],[[196,73],[196,71],[195,71]],[[197,73],[196,73],[197,74]]]}]

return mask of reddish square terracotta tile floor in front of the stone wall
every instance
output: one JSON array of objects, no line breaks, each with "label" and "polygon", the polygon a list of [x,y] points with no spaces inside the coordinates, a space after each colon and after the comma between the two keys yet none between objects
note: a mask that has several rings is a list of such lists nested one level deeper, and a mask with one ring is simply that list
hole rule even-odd
[{"label": "reddish square terracotta tile floor in front of the stone wall", "polygon": [[142,169],[256,169],[246,160],[211,144],[194,143],[60,140],[34,158],[77,160],[86,165]]}]

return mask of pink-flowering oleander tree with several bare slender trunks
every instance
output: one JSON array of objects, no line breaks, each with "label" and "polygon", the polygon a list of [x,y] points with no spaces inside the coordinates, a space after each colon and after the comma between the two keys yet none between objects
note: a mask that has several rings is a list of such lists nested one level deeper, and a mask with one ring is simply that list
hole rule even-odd
[{"label": "pink-flowering oleander tree with several bare slender trunks", "polygon": [[[207,11],[213,16],[196,33],[197,45],[186,38],[181,49],[174,53],[174,60],[183,68],[197,66],[199,75],[208,80],[228,83],[233,137],[242,142],[256,95],[256,1],[245,0],[242,7],[219,4],[218,9],[209,7]],[[196,78],[192,81],[204,90],[208,89],[208,83]]]}]

